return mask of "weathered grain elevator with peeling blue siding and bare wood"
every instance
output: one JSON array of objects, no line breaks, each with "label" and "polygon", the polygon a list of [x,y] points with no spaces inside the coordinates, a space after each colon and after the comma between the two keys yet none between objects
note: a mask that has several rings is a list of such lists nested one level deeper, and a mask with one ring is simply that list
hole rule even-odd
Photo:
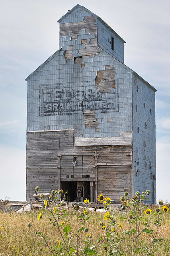
[{"label": "weathered grain elevator with peeling blue siding and bare wood", "polygon": [[60,49],[25,79],[26,199],[40,186],[91,202],[150,189],[156,202],[156,90],[124,65],[125,41],[96,14],[77,4],[58,22]]}]

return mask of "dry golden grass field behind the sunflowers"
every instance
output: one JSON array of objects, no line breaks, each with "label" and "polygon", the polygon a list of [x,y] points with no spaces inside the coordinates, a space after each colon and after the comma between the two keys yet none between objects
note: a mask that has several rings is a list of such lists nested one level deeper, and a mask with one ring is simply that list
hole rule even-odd
[{"label": "dry golden grass field behind the sunflowers", "polygon": [[[154,211],[154,208],[152,209]],[[152,212],[153,212],[152,211]],[[88,233],[92,235],[92,240],[96,238],[104,237],[104,230],[100,226],[100,222],[106,223],[104,221],[103,213],[91,212],[89,214],[90,219],[88,220],[87,227],[89,228]],[[39,216],[38,211],[34,212],[25,212],[23,214],[18,214],[16,212],[3,213],[0,212],[0,256],[49,256],[51,253],[45,247],[45,245],[37,244],[41,242],[39,235],[35,234],[33,228],[28,227],[28,222],[31,222],[33,226],[39,231],[42,231],[42,225],[44,222],[45,233],[48,233],[47,237],[49,245],[51,247],[58,244],[61,239],[60,234],[57,232],[56,226],[53,226],[49,223],[49,214],[48,212],[43,212],[43,219],[37,220]],[[122,216],[121,212],[115,214],[115,219],[120,222],[119,217]],[[154,218],[154,214],[150,214],[151,218]],[[158,242],[158,252],[155,252],[155,256],[170,256],[170,213],[166,213],[166,219],[160,226],[158,230],[157,238],[163,238],[164,241]],[[76,211],[69,210],[68,214],[69,224],[72,228],[72,231],[76,230],[77,218]],[[126,220],[121,220],[123,228],[117,230],[117,232],[123,232],[123,230],[128,230],[128,225]],[[152,226],[153,229],[156,229],[155,226]],[[141,237],[140,243],[142,246],[148,243],[151,239],[150,234],[143,234]],[[125,248],[130,249],[128,238],[123,240]],[[101,248],[98,250],[97,255],[109,255],[104,251],[105,244],[102,244]],[[144,254],[139,253],[139,256]]]}]

